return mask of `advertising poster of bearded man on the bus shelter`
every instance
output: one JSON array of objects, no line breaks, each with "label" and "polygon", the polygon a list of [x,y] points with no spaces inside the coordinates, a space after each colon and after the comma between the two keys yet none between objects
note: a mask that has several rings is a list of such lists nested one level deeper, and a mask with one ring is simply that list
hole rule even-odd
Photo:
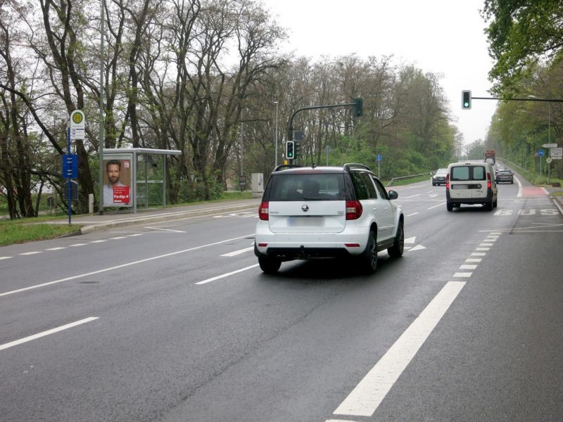
[{"label": "advertising poster of bearded man on the bus shelter", "polygon": [[131,207],[132,156],[103,160],[103,206]]}]

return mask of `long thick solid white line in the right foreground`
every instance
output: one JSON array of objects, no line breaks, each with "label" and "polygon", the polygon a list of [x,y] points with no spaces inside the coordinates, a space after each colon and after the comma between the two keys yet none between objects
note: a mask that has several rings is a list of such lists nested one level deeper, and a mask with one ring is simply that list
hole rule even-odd
[{"label": "long thick solid white line in the right foreground", "polygon": [[372,416],[465,284],[465,281],[448,281],[417,319],[410,324],[379,359],[379,362],[336,408],[334,414]]}]

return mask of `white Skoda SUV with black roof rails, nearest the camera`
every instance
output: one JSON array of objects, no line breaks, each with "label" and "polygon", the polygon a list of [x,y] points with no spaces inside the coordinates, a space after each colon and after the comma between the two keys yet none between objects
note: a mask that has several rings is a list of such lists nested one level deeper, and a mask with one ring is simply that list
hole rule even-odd
[{"label": "white Skoda SUV with black roof rails, nearest the camera", "polygon": [[265,273],[281,262],[353,257],[365,271],[377,252],[403,255],[405,217],[368,167],[278,166],[258,210],[254,252]]}]

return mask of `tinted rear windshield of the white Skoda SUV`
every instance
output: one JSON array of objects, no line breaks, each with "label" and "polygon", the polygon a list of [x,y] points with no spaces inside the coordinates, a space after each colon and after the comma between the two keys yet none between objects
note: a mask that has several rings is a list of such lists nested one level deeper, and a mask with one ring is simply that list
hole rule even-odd
[{"label": "tinted rear windshield of the white Skoda SUV", "polygon": [[276,174],[270,186],[271,201],[344,200],[344,174]]}]

